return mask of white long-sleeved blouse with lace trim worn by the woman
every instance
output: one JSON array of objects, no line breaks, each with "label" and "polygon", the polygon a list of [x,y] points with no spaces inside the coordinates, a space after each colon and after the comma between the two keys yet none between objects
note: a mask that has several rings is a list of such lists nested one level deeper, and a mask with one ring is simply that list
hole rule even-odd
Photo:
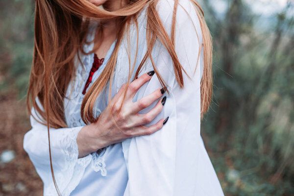
[{"label": "white long-sleeved blouse with lace trim worn by the woman", "polygon": [[[181,65],[191,79],[183,74],[185,88],[179,88],[172,68],[172,59],[164,46],[156,42],[152,56],[159,73],[168,84],[170,94],[165,95],[167,100],[162,112],[147,124],[154,124],[169,117],[163,128],[154,134],[126,139],[78,158],[76,137],[85,126],[80,116],[80,106],[84,98],[82,91],[92,68],[94,53],[82,55],[82,65],[77,61],[75,77],[64,99],[68,128],[49,130],[52,164],[62,196],[223,196],[220,182],[200,136],[200,80],[203,67],[203,49],[199,47],[202,45],[201,28],[190,0],[180,0],[180,4],[176,17],[175,48]],[[171,32],[173,0],[159,0],[157,10],[166,31]],[[127,81],[129,62],[131,66],[135,65],[136,70],[146,53],[145,11],[146,9],[138,16],[137,59],[135,25],[130,27],[129,41],[124,37],[120,45],[112,97]],[[88,39],[92,40],[95,30],[90,32]],[[93,82],[105,68],[114,46],[115,43],[109,49],[103,64],[94,73]],[[93,44],[85,45],[84,49],[90,51]],[[197,61],[199,49],[201,53]],[[151,70],[152,64],[147,61],[139,76]],[[160,87],[160,82],[154,74],[150,81],[139,89],[134,101]],[[107,104],[108,90],[97,99],[96,116]],[[155,103],[141,113],[146,113],[154,106]],[[32,115],[40,119],[34,109]],[[44,196],[56,196],[50,172],[47,127],[38,123],[32,116],[30,121],[32,129],[25,134],[25,151],[44,182]]]}]

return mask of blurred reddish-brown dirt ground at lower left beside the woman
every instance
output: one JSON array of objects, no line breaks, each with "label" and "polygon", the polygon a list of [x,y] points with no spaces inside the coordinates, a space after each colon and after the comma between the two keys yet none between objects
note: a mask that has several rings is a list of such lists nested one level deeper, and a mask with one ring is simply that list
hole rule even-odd
[{"label": "blurred reddish-brown dirt ground at lower left beside the woman", "polygon": [[13,150],[15,158],[0,163],[0,196],[42,196],[43,182],[23,148],[25,133],[30,129],[25,100],[16,94],[0,94],[0,154]]}]

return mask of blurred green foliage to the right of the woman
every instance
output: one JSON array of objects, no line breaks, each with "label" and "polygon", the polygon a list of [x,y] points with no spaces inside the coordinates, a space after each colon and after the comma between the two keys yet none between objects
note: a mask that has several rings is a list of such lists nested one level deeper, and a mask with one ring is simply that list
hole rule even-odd
[{"label": "blurred green foliage to the right of the woman", "polygon": [[294,195],[293,1],[266,28],[245,0],[225,2],[220,17],[202,1],[215,53],[201,134],[226,195]]}]

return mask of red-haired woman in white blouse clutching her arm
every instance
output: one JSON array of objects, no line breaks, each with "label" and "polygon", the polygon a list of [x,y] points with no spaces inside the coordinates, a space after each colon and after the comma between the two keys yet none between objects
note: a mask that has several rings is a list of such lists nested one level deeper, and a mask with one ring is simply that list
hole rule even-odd
[{"label": "red-haired woman in white blouse clutching her arm", "polygon": [[24,148],[44,195],[223,195],[211,58],[195,0],[36,0]]}]

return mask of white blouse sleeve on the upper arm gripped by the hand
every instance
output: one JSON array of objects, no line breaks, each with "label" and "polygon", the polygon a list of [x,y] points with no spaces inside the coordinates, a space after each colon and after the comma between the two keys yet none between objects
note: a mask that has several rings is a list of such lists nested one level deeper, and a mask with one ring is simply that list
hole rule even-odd
[{"label": "white blouse sleeve on the upper arm gripped by the hand", "polygon": [[[173,0],[160,0],[158,13],[167,32],[171,32]],[[168,51],[159,43],[153,59],[166,81],[170,94],[162,112],[147,124],[169,117],[161,130],[123,142],[128,169],[124,196],[194,196],[200,138],[200,79],[202,35],[195,8],[190,0],[181,0],[175,26],[175,49],[184,70],[184,88],[177,84]],[[198,34],[198,35],[197,35]],[[197,37],[199,39],[197,39]],[[199,43],[200,42],[200,43]],[[203,49],[202,49],[203,50]],[[199,59],[198,59],[199,57]],[[153,68],[147,63],[147,71]],[[145,73],[145,72],[142,72]],[[134,101],[161,88],[156,74],[141,87]],[[150,105],[142,113],[155,106]]]}]

